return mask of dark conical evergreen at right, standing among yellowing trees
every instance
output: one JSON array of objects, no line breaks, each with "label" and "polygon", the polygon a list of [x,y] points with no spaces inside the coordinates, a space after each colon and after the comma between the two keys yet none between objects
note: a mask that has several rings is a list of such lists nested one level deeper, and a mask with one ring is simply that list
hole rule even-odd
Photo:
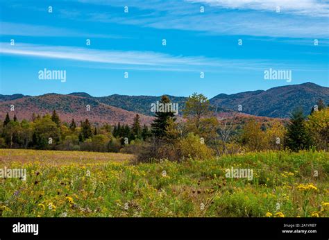
[{"label": "dark conical evergreen at right, standing among yellowing trees", "polygon": [[285,145],[292,151],[310,147],[310,135],[305,128],[305,117],[301,109],[292,113],[285,135]]}]

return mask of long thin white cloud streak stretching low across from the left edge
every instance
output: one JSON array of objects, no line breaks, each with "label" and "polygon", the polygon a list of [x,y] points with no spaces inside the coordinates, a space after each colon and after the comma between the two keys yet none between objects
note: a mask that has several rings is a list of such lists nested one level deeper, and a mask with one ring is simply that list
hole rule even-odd
[{"label": "long thin white cloud streak stretching low across from the left edge", "polygon": [[[108,69],[135,69],[142,71],[223,71],[223,69],[262,70],[267,67],[289,69],[314,69],[314,66],[294,65],[292,62],[270,60],[239,60],[205,58],[204,56],[169,55],[152,51],[110,51],[78,48],[73,46],[45,46],[38,44],[0,43],[0,53],[25,55],[35,58],[51,58],[92,62],[88,67]],[[317,66],[320,69],[323,66]]]}]

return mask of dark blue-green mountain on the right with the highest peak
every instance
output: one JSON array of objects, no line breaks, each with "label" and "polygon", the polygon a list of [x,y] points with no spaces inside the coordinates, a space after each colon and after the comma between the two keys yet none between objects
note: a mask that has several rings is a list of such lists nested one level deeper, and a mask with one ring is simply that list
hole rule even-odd
[{"label": "dark blue-green mountain on the right with the highest peak", "polygon": [[242,105],[242,112],[263,117],[287,118],[298,108],[310,114],[312,106],[319,98],[329,103],[329,87],[314,83],[273,87],[266,91],[258,90],[238,94],[219,94],[210,99],[212,105],[237,110]]}]

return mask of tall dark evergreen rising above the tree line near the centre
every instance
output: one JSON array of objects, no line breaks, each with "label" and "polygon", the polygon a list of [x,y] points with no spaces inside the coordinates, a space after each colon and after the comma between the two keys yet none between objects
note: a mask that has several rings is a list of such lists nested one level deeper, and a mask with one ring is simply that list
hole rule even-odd
[{"label": "tall dark evergreen rising above the tree line near the centre", "polygon": [[[161,97],[160,104],[165,105],[166,103],[171,103],[171,101],[168,96],[164,95]],[[169,119],[173,119],[173,121],[176,120],[176,118],[174,118],[174,112],[155,112],[155,119],[153,120],[153,123],[151,123],[151,132],[155,137],[165,137]]]}]

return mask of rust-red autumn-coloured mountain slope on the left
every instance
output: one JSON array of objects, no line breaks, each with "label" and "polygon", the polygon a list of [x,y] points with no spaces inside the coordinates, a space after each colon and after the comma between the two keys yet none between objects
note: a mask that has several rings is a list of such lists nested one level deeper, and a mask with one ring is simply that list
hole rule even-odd
[{"label": "rust-red autumn-coloured mountain slope on the left", "polygon": [[[76,121],[84,121],[86,118],[96,123],[133,123],[136,112],[129,112],[92,98],[62,94],[44,94],[42,96],[24,96],[10,101],[0,102],[0,119],[4,119],[6,112],[10,112],[10,105],[14,105],[15,114],[18,119],[31,119],[33,112],[36,114],[47,114],[56,110],[62,121],[69,122],[72,118]],[[90,111],[87,111],[90,105]],[[152,117],[140,114],[141,123],[149,124]]]}]

